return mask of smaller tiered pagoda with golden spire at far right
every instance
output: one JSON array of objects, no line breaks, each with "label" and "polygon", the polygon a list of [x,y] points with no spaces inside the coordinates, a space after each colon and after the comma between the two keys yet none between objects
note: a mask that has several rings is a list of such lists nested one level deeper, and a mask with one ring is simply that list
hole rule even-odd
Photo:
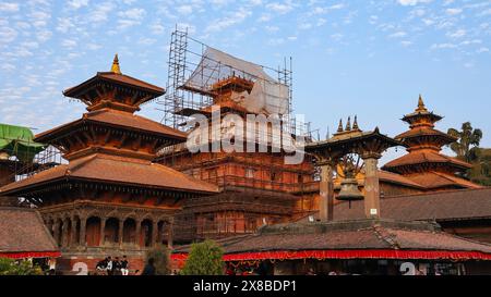
[{"label": "smaller tiered pagoda with golden spire at far right", "polygon": [[396,136],[408,153],[386,163],[382,170],[399,174],[423,187],[424,191],[479,188],[462,174],[471,168],[467,162],[441,153],[442,147],[456,139],[434,128],[443,117],[428,111],[421,96],[415,112],[402,120],[410,129]]}]

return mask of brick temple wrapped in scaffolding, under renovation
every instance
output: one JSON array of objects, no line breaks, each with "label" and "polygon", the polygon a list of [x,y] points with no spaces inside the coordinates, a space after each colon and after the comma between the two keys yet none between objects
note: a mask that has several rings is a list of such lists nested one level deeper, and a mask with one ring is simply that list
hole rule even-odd
[{"label": "brick temple wrapped in scaffolding, under renovation", "polygon": [[[221,119],[232,113],[246,122],[247,114],[256,113],[238,104],[233,98],[251,92],[253,86],[254,82],[236,75],[220,79],[208,91],[214,106],[187,111],[188,115],[203,114],[212,127],[213,108],[217,108]],[[226,134],[227,129],[221,128],[220,133]],[[159,157],[158,162],[215,184],[221,190],[218,195],[185,202],[179,214],[182,222],[179,225],[183,228],[176,231],[181,243],[253,233],[264,224],[287,222],[303,210],[314,208],[313,203],[309,205],[312,197],[308,196],[316,195],[319,186],[313,180],[314,169],[309,157],[300,164],[285,164],[284,150],[272,152],[268,144],[267,152],[247,152],[248,141],[254,140],[244,140],[243,152],[213,152],[209,147],[209,152],[191,153],[185,147],[176,146]],[[253,146],[258,148],[258,143]],[[312,185],[314,189],[309,190]]]}]

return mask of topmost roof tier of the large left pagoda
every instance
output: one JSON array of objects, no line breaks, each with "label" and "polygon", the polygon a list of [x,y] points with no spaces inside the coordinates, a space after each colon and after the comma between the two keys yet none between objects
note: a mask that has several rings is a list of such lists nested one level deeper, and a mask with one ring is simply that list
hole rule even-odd
[{"label": "topmost roof tier of the large left pagoda", "polygon": [[82,99],[82,96],[98,83],[113,84],[120,87],[132,88],[151,95],[148,100],[159,97],[165,94],[165,89],[146,82],[140,81],[132,76],[115,73],[115,72],[97,72],[95,76],[79,84],[74,87],[68,88],[63,91],[64,96]]}]

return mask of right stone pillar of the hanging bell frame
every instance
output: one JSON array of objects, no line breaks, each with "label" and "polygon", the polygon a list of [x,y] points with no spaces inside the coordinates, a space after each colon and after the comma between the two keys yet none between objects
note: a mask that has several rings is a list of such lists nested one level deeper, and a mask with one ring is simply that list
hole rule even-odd
[{"label": "right stone pillar of the hanging bell frame", "polygon": [[378,163],[381,154],[362,156],[364,161],[364,214],[367,219],[380,218],[380,184]]}]

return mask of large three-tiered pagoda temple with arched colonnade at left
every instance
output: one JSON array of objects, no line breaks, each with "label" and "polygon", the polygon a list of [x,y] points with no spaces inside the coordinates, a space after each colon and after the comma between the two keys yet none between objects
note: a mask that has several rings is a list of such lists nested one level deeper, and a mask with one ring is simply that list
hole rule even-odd
[{"label": "large three-tiered pagoda temple with arched colonnade at left", "polygon": [[137,268],[146,248],[171,245],[182,198],[217,193],[214,185],[152,162],[161,147],[187,139],[134,114],[164,92],[122,74],[116,55],[110,72],[63,91],[88,112],[35,137],[58,148],[68,163],[0,189],[0,196],[24,197],[38,207],[67,260],[59,261],[61,270],[71,269],[70,261],[94,269],[95,261],[122,255]]}]

